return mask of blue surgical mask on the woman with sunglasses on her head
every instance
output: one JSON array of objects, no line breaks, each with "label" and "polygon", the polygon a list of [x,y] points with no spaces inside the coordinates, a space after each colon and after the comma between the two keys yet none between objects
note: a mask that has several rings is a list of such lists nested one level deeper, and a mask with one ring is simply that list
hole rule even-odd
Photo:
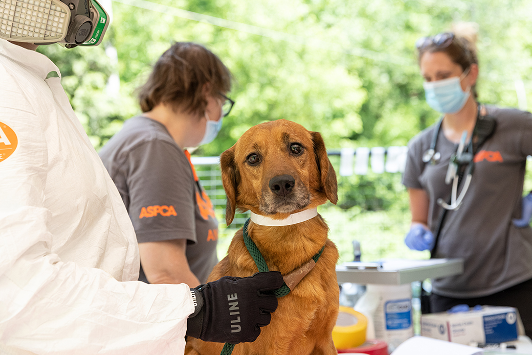
[{"label": "blue surgical mask on the woman with sunglasses on her head", "polygon": [[441,113],[460,111],[471,95],[471,88],[465,92],[460,85],[465,75],[467,72],[464,72],[460,77],[424,82],[423,88],[425,89],[427,104]]}]

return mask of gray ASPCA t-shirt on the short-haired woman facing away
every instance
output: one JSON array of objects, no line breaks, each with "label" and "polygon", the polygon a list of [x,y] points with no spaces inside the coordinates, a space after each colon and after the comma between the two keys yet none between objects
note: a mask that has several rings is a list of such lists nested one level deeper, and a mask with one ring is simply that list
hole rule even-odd
[{"label": "gray ASPCA t-shirt on the short-haired woman facing away", "polygon": [[[190,270],[204,283],[218,262],[218,222],[192,163],[164,125],[132,117],[99,156],[122,196],[138,242],[187,239]],[[142,265],[139,280],[147,282]]]}]

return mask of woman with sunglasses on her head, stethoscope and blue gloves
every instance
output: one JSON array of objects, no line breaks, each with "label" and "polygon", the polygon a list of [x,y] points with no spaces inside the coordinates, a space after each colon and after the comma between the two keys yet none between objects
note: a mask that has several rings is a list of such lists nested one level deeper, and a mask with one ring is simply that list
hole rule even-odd
[{"label": "woman with sunglasses on her head, stethoscope and blue gloves", "polygon": [[461,26],[416,44],[427,103],[442,117],[409,142],[405,243],[464,259],[462,275],[433,280],[432,312],[461,303],[512,306],[532,335],[532,206],[530,196],[521,198],[532,115],[477,101],[475,40]]}]

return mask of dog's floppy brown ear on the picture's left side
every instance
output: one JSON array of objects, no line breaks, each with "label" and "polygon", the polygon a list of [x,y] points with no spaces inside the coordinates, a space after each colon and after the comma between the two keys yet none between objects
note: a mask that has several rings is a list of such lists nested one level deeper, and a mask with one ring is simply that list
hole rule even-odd
[{"label": "dog's floppy brown ear on the picture's left side", "polygon": [[236,196],[240,174],[235,162],[235,146],[227,149],[220,155],[223,189],[226,190],[226,223],[231,224],[235,218]]}]

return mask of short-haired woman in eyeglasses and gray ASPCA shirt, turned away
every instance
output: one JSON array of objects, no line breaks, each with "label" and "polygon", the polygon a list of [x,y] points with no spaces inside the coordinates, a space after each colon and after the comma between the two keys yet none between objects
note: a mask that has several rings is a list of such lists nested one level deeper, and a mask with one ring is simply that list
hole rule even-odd
[{"label": "short-haired woman in eyeglasses and gray ASPCA shirt, turned away", "polygon": [[194,43],[176,43],[139,90],[132,117],[99,155],[135,227],[139,280],[204,283],[218,262],[218,222],[187,147],[214,140],[234,102],[231,74]]}]

